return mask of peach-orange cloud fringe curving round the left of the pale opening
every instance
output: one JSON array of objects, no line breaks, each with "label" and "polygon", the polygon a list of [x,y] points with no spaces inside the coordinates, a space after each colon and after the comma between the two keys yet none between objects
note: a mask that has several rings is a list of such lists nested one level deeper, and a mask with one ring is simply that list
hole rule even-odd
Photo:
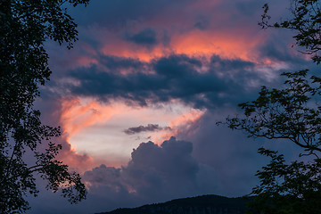
[{"label": "peach-orange cloud fringe curving round the left of the pale opening", "polygon": [[[62,100],[62,159],[71,168],[76,168],[79,172],[95,167],[95,163],[106,163],[106,160],[95,157],[93,159],[90,152],[78,152],[78,144],[71,142],[70,138],[79,133],[86,133],[86,128],[95,124],[103,123],[121,111],[125,111],[126,106],[120,103],[110,105],[101,104],[92,99],[65,97]],[[87,142],[87,145],[89,146]],[[119,162],[108,161],[113,166],[120,166]]]}]

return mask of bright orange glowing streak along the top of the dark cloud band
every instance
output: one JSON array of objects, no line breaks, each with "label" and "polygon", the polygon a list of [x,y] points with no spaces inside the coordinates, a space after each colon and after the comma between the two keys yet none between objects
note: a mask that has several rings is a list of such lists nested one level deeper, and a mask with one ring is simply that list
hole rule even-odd
[{"label": "bright orange glowing streak along the top of the dark cloud band", "polygon": [[105,43],[100,52],[104,55],[133,58],[142,62],[151,62],[153,59],[169,54],[205,57],[217,54],[227,59],[259,62],[261,60],[258,59],[259,54],[255,47],[265,39],[263,34],[249,37],[247,32],[242,32],[242,30],[236,33],[236,30],[234,32],[220,32],[199,29],[184,33],[173,32],[170,37],[169,43],[158,43],[152,46],[136,45],[113,37],[114,42]]}]

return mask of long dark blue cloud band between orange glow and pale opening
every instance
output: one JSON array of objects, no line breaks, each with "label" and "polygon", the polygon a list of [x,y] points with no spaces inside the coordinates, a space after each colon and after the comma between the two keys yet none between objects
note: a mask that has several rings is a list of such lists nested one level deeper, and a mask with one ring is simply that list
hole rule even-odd
[{"label": "long dark blue cloud band between orange glow and pale opening", "polygon": [[[122,60],[129,67],[130,63],[135,65],[132,72],[106,72],[95,65],[89,69],[71,70],[70,77],[79,82],[77,86],[68,86],[71,93],[95,96],[105,102],[124,99],[142,106],[178,99],[195,108],[213,108],[231,103],[231,99],[240,102],[239,95],[248,87],[246,82],[251,79],[263,81],[263,77],[249,72],[255,68],[252,62],[224,60],[218,56],[213,56],[210,64],[181,54],[150,63],[118,58],[117,63],[105,61],[103,66],[107,70],[121,70]],[[199,71],[204,65],[209,69]]]}]

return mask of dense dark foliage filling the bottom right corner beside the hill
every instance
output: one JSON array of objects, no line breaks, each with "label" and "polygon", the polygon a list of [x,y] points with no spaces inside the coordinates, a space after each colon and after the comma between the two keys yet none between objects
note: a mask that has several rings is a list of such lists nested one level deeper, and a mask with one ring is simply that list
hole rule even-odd
[{"label": "dense dark foliage filling the bottom right corner beside the hill", "polygon": [[247,213],[316,214],[321,210],[321,159],[285,164],[284,156],[263,148],[259,153],[271,162],[257,173],[260,185]]}]

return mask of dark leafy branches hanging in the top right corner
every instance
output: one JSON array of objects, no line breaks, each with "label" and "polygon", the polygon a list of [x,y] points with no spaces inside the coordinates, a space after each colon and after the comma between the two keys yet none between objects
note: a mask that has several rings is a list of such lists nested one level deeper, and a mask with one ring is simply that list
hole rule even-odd
[{"label": "dark leafy branches hanging in the top right corner", "polygon": [[280,21],[269,24],[271,18],[268,15],[268,4],[264,4],[264,13],[259,25],[262,28],[293,29],[297,45],[305,47],[303,53],[312,55],[314,62],[320,63],[321,56],[321,4],[319,0],[292,0],[292,18],[287,21]]}]

